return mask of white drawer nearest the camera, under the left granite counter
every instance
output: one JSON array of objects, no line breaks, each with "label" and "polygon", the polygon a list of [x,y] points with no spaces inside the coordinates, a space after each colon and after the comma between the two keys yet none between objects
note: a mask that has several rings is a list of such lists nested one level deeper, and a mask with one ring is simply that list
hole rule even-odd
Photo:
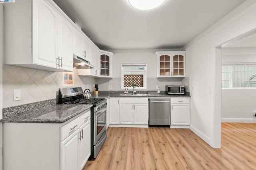
[{"label": "white drawer nearest the camera, under the left granite counter", "polygon": [[60,141],[64,140],[66,137],[72,134],[74,131],[76,131],[76,129],[79,129],[81,125],[80,117],[78,117],[63,127],[60,127]]}]

